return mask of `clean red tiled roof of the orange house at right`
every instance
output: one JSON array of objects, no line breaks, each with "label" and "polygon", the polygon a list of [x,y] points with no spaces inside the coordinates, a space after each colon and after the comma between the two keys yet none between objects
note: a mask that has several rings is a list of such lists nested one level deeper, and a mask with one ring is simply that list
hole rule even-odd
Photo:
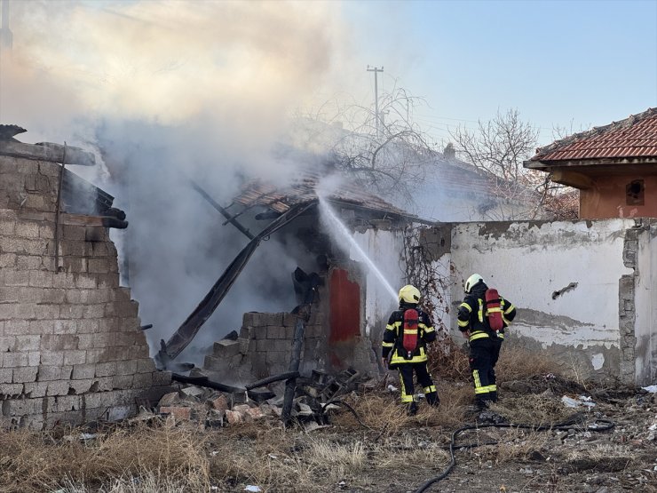
[{"label": "clean red tiled roof of the orange house at right", "polygon": [[657,108],[557,140],[527,163],[636,157],[657,157]]}]

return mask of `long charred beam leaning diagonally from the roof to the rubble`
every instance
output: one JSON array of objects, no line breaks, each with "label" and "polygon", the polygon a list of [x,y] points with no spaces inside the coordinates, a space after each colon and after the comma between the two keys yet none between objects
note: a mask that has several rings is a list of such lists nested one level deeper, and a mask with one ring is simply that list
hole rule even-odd
[{"label": "long charred beam leaning diagonally from the roof to the rubble", "polygon": [[221,300],[224,299],[228,290],[231,289],[234,282],[237,280],[237,277],[241,274],[244,266],[249,262],[249,258],[251,258],[251,255],[253,255],[253,252],[257,249],[260,242],[278,231],[281,227],[284,227],[291,220],[297,218],[297,216],[301,215],[311,207],[314,207],[315,204],[316,201],[312,201],[309,203],[300,203],[290,208],[289,211],[283,214],[280,218],[274,219],[269,223],[265,229],[258,233],[257,236],[241,250],[237,257],[234,258],[233,262],[226,267],[224,273],[221,274],[217,282],[214,283],[210,292],[205,295],[205,298],[202,299],[199,306],[196,306],[194,312],[187,317],[186,321],[178,327],[178,330],[176,330],[166,343],[164,343],[163,340],[161,341],[160,344],[162,349],[157,355],[157,359],[162,367],[166,368],[167,362],[175,359],[178,354],[186,348],[196,333],[201,329],[202,325],[214,313],[219,303],[221,303]]}]

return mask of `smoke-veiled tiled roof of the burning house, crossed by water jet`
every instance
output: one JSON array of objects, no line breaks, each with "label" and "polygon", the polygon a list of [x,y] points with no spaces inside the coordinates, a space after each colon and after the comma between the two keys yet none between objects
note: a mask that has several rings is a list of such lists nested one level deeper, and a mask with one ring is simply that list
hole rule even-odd
[{"label": "smoke-veiled tiled roof of the burning house, crossed by water jet", "polygon": [[[285,212],[298,203],[309,203],[317,200],[315,187],[322,178],[317,171],[305,171],[303,176],[289,183],[287,187],[275,187],[272,184],[252,180],[242,189],[234,202],[247,207],[265,205],[273,211]],[[344,183],[338,190],[329,195],[329,200],[352,204],[372,211],[391,212],[392,214],[413,217],[408,212],[398,209],[378,196],[369,194],[361,187],[351,182]]]}]

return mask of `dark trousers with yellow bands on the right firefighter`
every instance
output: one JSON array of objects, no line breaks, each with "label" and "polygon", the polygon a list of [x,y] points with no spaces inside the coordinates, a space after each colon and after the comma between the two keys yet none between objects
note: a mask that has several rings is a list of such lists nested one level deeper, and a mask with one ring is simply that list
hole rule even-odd
[{"label": "dark trousers with yellow bands on the right firefighter", "polygon": [[500,354],[501,344],[495,336],[480,338],[470,343],[470,370],[474,384],[477,405],[483,407],[487,402],[497,401],[495,362]]}]

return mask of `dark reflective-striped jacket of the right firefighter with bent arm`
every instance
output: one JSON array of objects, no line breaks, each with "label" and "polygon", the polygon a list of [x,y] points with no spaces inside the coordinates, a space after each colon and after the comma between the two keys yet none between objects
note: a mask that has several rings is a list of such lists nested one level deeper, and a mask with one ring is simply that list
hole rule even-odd
[{"label": "dark reflective-striped jacket of the right firefighter with bent arm", "polygon": [[486,313],[485,293],[487,285],[480,282],[472,288],[472,292],[463,299],[458,307],[458,328],[462,332],[470,330],[470,342],[481,338],[504,338],[504,329],[509,326],[516,316],[516,307],[511,301],[500,297],[500,309],[502,310],[503,329],[495,333],[490,328]]}]

